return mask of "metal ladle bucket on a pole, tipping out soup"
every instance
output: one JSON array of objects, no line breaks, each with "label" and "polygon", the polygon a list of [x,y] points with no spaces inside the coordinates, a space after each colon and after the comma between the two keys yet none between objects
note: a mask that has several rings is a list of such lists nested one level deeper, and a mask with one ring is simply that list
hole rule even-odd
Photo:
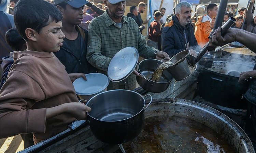
[{"label": "metal ladle bucket on a pole, tipping out soup", "polygon": [[170,61],[174,64],[166,70],[172,74],[172,77],[176,81],[186,79],[197,69],[196,65],[191,66],[191,64],[189,64],[187,60],[188,56],[190,56],[190,51],[184,50],[182,52],[177,53],[170,59]]}]

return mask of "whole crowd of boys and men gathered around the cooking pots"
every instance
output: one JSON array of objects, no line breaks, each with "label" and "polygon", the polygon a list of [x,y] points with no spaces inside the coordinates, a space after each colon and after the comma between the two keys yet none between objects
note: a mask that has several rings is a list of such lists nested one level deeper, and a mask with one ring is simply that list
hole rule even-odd
[{"label": "whole crowd of boys and men gathered around the cooking pots", "polygon": [[[254,3],[251,0],[247,11],[239,9],[236,29],[221,36],[220,28],[213,31],[218,12],[213,3],[207,6],[207,14],[195,18],[191,4],[180,2],[163,21],[168,9],[164,7],[155,10],[153,18],[142,20],[147,6],[143,2],[131,6],[125,16],[126,1],[122,0],[103,0],[97,5],[86,0],[10,0],[11,7],[8,0],[1,0],[0,137],[25,133],[24,139],[38,143],[67,129],[72,121],[86,119],[90,108],[77,103],[72,82],[80,77],[86,80],[87,73],[107,75],[110,61],[125,47],[158,60],[169,60],[186,49],[195,56],[209,40],[211,48],[239,41],[256,52],[251,42],[256,38]],[[229,17],[233,13],[226,12],[223,23]],[[148,40],[142,35],[146,23]],[[244,41],[238,35],[252,39]],[[239,81],[256,78],[255,71],[241,74]],[[110,82],[108,90],[135,89],[136,75],[134,70],[123,81]],[[245,98],[250,102],[249,116],[254,116],[248,119],[254,127],[248,133],[255,138],[255,79],[252,82]],[[253,138],[252,142],[256,144]]]}]

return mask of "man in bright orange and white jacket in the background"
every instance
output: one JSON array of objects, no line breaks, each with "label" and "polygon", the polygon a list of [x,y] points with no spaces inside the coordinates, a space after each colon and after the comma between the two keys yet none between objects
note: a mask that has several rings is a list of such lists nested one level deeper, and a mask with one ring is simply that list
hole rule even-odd
[{"label": "man in bright orange and white jacket in the background", "polygon": [[200,47],[203,47],[209,41],[209,35],[212,32],[211,22],[212,19],[217,16],[218,7],[216,4],[211,3],[207,6],[207,15],[198,19],[195,26],[195,36],[197,43]]}]

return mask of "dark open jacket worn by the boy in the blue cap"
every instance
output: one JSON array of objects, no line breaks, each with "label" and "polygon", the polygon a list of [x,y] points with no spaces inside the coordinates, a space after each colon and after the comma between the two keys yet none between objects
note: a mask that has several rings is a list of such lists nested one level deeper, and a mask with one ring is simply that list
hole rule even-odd
[{"label": "dark open jacket worn by the boy in the blue cap", "polygon": [[70,48],[65,41],[63,45],[60,47],[58,52],[54,52],[59,61],[66,67],[66,71],[68,73],[94,73],[96,72],[96,68],[90,65],[86,59],[87,54],[87,39],[88,39],[88,31],[83,29],[80,26],[76,26],[77,31],[80,32],[80,39],[83,42],[80,47],[80,58],[77,58],[72,52],[72,48]]}]

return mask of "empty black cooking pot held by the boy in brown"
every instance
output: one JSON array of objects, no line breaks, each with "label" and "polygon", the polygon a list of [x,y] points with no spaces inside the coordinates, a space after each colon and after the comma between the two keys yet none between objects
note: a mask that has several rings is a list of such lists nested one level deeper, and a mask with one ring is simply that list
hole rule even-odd
[{"label": "empty black cooking pot held by the boy in brown", "polygon": [[[150,96],[152,102],[151,95]],[[144,97],[145,97],[144,96]],[[144,124],[145,99],[130,90],[102,92],[87,102],[93,134],[102,142],[121,144],[137,137]]]}]

